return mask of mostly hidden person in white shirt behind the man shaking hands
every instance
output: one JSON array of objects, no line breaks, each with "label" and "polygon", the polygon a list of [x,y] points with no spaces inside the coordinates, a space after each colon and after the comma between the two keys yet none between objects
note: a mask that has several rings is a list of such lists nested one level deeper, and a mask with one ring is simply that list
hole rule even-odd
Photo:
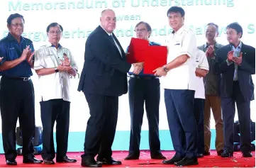
[{"label": "mostly hidden person in white shirt behind the man shaking hands", "polygon": [[197,49],[196,52],[196,92],[194,99],[194,113],[197,123],[197,157],[204,157],[204,77],[208,73],[209,65],[206,53]]}]

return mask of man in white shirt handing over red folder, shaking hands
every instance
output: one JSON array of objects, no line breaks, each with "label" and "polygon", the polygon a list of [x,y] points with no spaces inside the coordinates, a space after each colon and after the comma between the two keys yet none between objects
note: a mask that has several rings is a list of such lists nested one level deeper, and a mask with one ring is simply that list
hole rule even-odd
[{"label": "man in white shirt handing over red folder, shaking hands", "polygon": [[184,9],[172,6],[167,11],[173,32],[168,37],[167,65],[155,69],[156,76],[165,76],[165,106],[169,130],[176,154],[164,164],[188,166],[198,164],[197,130],[194,116],[196,89],[196,37],[184,26]]}]

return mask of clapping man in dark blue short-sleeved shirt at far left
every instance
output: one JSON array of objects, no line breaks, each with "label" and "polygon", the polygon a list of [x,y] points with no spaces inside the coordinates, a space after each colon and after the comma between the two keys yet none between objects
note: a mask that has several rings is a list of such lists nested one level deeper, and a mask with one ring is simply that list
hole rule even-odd
[{"label": "clapping man in dark blue short-sleeved shirt at far left", "polygon": [[24,18],[18,13],[7,19],[9,34],[0,40],[0,108],[6,164],[16,165],[16,123],[19,119],[23,140],[23,163],[41,163],[33,155],[35,134],[35,95],[33,82],[33,43],[21,34]]}]

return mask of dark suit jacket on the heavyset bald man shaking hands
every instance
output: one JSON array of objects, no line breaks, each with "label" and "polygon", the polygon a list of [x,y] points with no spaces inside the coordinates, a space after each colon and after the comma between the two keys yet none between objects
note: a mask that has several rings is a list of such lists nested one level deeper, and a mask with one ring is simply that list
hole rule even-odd
[{"label": "dark suit jacket on the heavyset bald man shaking hands", "polygon": [[78,91],[85,94],[121,96],[128,91],[127,72],[131,65],[116,36],[122,56],[106,31],[99,26],[87,38],[84,52],[84,68]]}]

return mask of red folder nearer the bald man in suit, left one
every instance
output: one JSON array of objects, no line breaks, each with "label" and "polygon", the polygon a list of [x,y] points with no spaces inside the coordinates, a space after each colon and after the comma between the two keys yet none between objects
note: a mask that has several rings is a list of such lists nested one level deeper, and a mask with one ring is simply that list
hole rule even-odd
[{"label": "red folder nearer the bald man in suit, left one", "polygon": [[139,38],[132,38],[128,48],[127,61],[130,64],[144,62],[144,56],[148,51],[149,42]]}]

